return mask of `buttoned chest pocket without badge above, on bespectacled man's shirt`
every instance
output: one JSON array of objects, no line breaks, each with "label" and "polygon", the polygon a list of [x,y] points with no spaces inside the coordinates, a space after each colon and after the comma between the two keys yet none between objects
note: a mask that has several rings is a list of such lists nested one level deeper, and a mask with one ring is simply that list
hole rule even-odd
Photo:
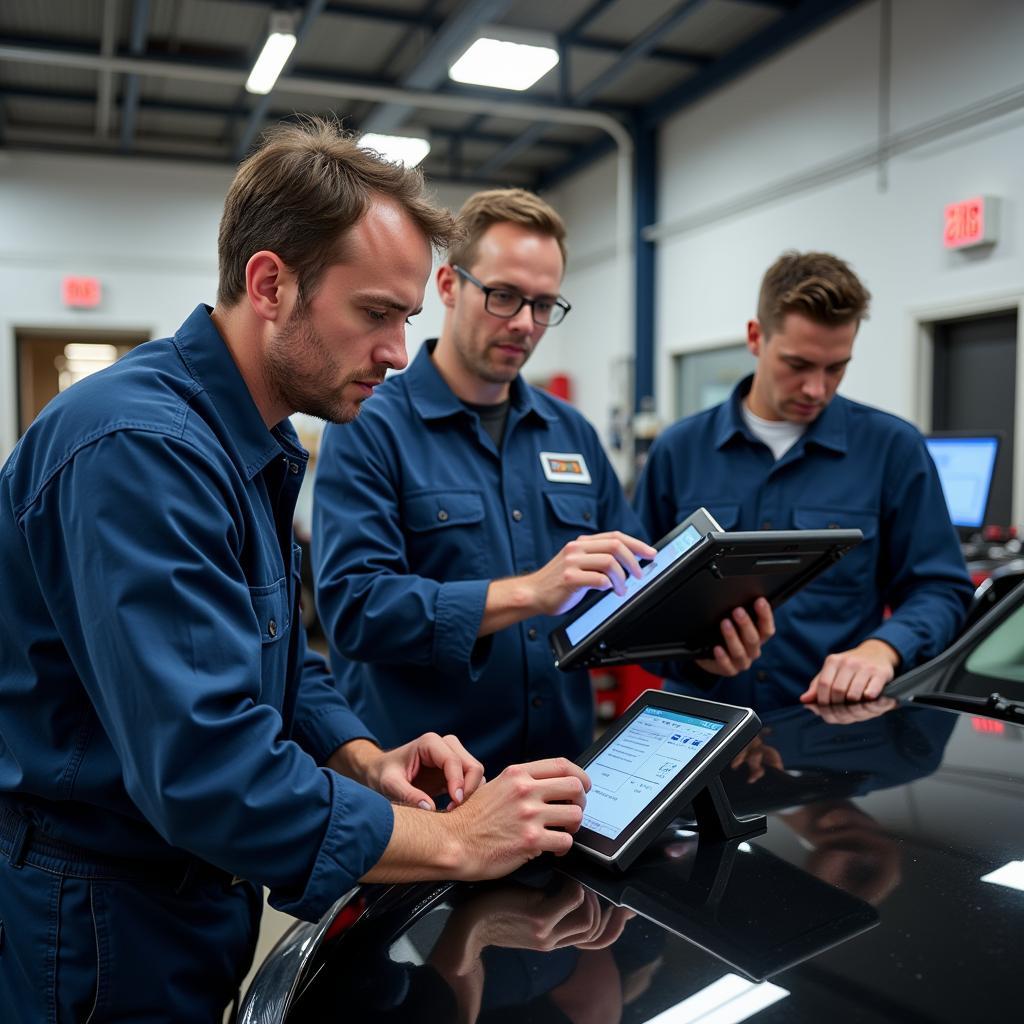
[{"label": "buttoned chest pocket without badge above, on bespectacled man's shirt", "polygon": [[483,495],[479,490],[421,490],[402,502],[409,567],[432,580],[487,575]]}]

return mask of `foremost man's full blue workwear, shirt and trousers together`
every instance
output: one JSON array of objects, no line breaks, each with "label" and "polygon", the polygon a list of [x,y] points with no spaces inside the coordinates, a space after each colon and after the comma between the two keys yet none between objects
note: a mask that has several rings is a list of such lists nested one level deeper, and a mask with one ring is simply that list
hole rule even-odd
[{"label": "foremost man's full blue workwear, shirt and trousers together", "polygon": [[387,845],[388,802],[322,767],[370,733],[298,616],[306,458],[199,306],[3,467],[5,1021],[219,1022],[258,886],[316,920]]}]

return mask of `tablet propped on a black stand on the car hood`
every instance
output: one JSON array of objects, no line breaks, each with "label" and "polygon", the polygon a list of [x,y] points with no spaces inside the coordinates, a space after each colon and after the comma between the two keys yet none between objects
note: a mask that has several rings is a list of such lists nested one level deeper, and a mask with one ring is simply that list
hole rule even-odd
[{"label": "tablet propped on a black stand on the car hood", "polygon": [[719,778],[760,728],[750,708],[645,690],[577,759],[592,787],[573,849],[625,869],[690,803],[702,839],[763,831],[763,816],[732,813]]}]

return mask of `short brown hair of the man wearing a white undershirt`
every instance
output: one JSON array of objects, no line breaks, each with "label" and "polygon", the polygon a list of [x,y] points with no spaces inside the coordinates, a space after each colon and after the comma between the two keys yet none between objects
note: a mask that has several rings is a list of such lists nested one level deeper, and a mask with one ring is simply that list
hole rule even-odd
[{"label": "short brown hair of the man wearing a white undershirt", "polygon": [[829,253],[782,253],[761,282],[758,321],[770,338],[786,313],[838,327],[867,316],[871,293],[849,264]]}]

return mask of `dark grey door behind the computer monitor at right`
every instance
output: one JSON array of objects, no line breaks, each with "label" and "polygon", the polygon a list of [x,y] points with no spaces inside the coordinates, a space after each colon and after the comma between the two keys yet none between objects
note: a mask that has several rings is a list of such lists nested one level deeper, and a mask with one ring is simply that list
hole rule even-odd
[{"label": "dark grey door behind the computer monitor at right", "polygon": [[1017,311],[935,325],[932,429],[1001,435],[988,521],[1012,522]]}]

